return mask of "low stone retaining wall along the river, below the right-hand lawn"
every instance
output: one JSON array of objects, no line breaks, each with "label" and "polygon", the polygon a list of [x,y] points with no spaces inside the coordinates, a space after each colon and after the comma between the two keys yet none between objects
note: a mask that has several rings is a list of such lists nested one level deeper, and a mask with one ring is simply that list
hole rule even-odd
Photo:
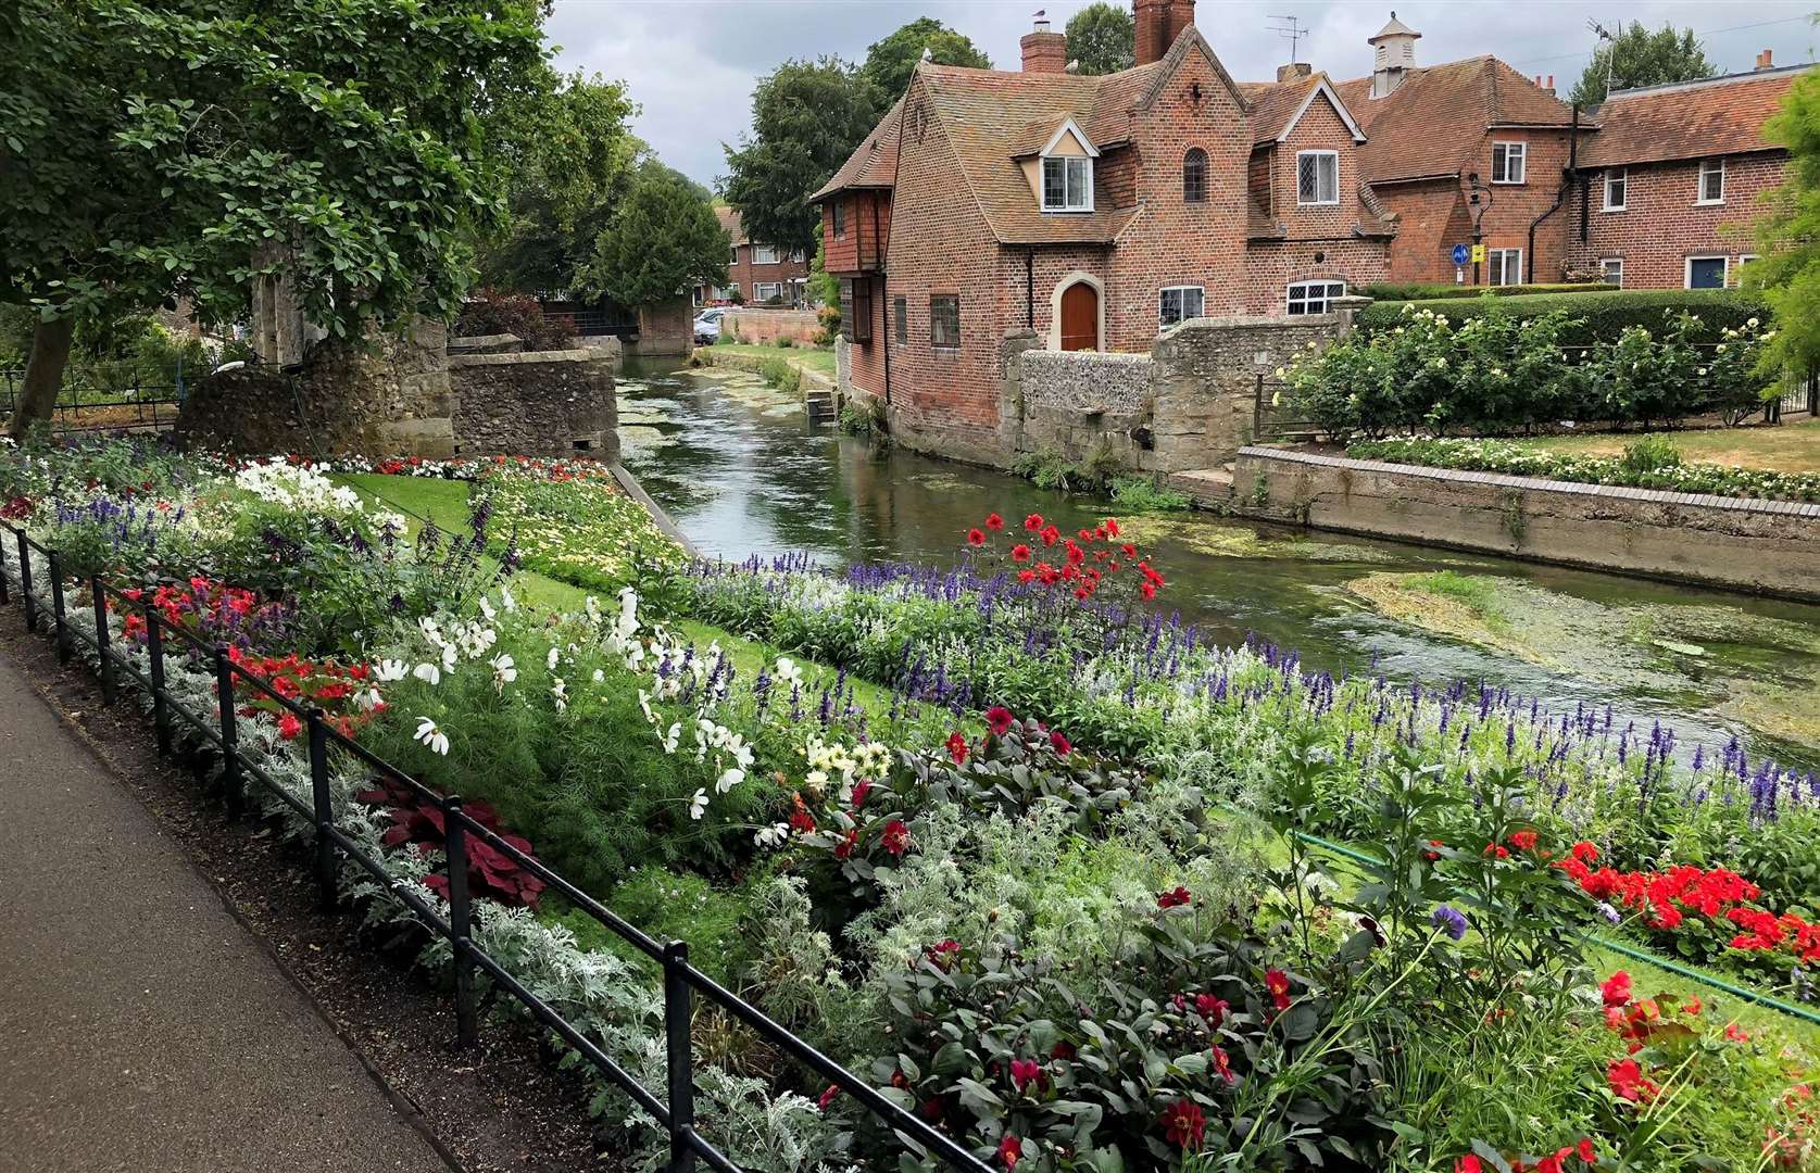
[{"label": "low stone retaining wall along the river, below the right-hand lawn", "polygon": [[1239,513],[1318,529],[1820,600],[1820,504],[1239,449]]}]

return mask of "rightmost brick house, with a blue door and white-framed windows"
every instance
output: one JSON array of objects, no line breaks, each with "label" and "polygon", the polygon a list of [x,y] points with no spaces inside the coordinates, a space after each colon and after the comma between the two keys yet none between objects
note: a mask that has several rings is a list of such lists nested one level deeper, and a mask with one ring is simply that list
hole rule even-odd
[{"label": "rightmost brick house, with a blue door and white-framed windows", "polygon": [[1749,224],[1784,180],[1789,153],[1764,122],[1807,65],[1649,85],[1592,111],[1569,224],[1576,267],[1638,289],[1736,286],[1754,256]]}]

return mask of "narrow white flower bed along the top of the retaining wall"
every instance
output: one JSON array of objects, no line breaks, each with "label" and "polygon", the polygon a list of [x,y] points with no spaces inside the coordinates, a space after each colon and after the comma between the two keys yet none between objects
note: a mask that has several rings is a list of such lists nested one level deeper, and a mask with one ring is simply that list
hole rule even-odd
[{"label": "narrow white flower bed along the top of the retaining wall", "polygon": [[1509,440],[1360,440],[1347,446],[1347,455],[1358,460],[1578,480],[1598,486],[1820,502],[1820,473],[1769,473],[1725,464],[1638,466],[1623,456],[1551,453]]}]

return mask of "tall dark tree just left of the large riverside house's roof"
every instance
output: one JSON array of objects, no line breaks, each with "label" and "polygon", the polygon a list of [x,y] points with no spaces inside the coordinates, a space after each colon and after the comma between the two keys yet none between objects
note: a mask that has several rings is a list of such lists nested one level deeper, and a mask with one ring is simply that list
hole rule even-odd
[{"label": "tall dark tree just left of the large riverside house's roof", "polygon": [[879,91],[837,56],[784,62],[752,95],[752,136],[726,147],[726,202],[752,240],[814,249],[808,196],[846,162],[879,118]]}]

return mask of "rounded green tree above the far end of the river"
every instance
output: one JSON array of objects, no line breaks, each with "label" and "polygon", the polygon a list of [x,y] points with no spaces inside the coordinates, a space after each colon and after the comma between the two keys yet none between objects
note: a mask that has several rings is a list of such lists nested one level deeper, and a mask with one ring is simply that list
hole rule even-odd
[{"label": "rounded green tree above the far end of the river", "polygon": [[648,158],[595,242],[582,280],[621,306],[650,306],[690,286],[724,286],[732,249],[708,191]]}]

